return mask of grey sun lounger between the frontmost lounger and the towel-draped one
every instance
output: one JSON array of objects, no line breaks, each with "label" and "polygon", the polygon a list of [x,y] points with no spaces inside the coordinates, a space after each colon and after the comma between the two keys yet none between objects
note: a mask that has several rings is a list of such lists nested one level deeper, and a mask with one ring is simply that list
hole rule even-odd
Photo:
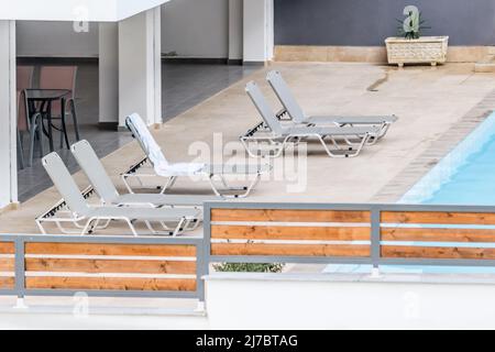
[{"label": "grey sun lounger between the frontmost lounger and the towel-draped one", "polygon": [[152,207],[194,207],[202,208],[205,202],[220,201],[215,196],[127,194],[121,195],[110,179],[95,150],[88,141],[80,141],[70,147],[74,157],[105,205],[152,206]]}]

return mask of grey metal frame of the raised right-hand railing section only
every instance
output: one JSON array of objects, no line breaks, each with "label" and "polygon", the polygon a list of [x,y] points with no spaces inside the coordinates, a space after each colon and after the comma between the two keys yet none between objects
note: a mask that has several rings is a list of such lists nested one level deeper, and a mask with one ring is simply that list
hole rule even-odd
[{"label": "grey metal frame of the raised right-hand railing section only", "polygon": [[[211,210],[212,209],[260,209],[260,210],[334,210],[334,211],[369,211],[371,215],[371,238],[370,249],[371,255],[366,257],[341,257],[341,256],[277,256],[277,255],[211,255]],[[488,206],[428,206],[428,205],[355,205],[355,204],[254,204],[254,202],[216,202],[205,206],[205,245],[208,263],[294,263],[294,264],[363,264],[380,267],[383,265],[405,265],[405,266],[494,266],[495,260],[487,258],[425,258],[425,257],[384,257],[382,249],[382,222],[383,212],[440,212],[440,213],[493,213],[495,216],[495,207]],[[400,226],[400,224],[397,224]],[[418,224],[421,226],[440,226],[443,228],[459,228],[459,224]],[[476,226],[471,227],[474,229]],[[492,240],[495,242],[495,221],[492,226],[494,230]],[[479,230],[479,229],[476,229]],[[400,242],[400,241],[397,241]],[[406,241],[410,242],[410,241]],[[420,242],[420,241],[418,241]],[[431,242],[433,244],[435,241]],[[457,242],[454,242],[457,243]],[[443,242],[448,248],[449,242]],[[484,242],[480,242],[483,248]],[[428,246],[422,244],[421,246]],[[435,246],[435,245],[431,245]],[[451,246],[455,248],[455,246]]]}]

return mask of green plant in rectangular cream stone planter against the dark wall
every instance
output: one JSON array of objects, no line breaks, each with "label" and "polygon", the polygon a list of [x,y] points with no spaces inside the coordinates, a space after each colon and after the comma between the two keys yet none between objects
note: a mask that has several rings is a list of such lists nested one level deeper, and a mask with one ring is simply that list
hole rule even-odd
[{"label": "green plant in rectangular cream stone planter against the dark wall", "polygon": [[404,67],[405,64],[430,64],[437,66],[447,62],[449,46],[448,36],[421,36],[425,26],[417,7],[404,9],[406,19],[398,20],[400,36],[388,37],[385,41],[388,63]]}]

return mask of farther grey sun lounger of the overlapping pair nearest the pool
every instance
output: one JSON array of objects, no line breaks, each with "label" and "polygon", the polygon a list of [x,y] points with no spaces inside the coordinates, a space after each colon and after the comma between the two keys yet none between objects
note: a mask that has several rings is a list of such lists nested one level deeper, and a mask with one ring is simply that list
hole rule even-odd
[{"label": "farther grey sun lounger of the overlapping pair nearest the pool", "polygon": [[277,70],[272,70],[266,76],[266,80],[275,91],[284,109],[277,114],[279,119],[288,117],[296,123],[304,123],[309,125],[377,125],[381,128],[376,140],[382,139],[391,128],[391,125],[398,120],[396,116],[377,116],[377,117],[344,117],[344,116],[326,116],[326,117],[307,117],[302,108],[297,102],[289,86]]}]

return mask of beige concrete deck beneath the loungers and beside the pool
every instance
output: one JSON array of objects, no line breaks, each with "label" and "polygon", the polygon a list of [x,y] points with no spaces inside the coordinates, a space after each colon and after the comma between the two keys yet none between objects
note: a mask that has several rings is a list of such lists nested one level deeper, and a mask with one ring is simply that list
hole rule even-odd
[{"label": "beige concrete deck beneath the loungers and beside the pool", "polygon": [[[284,74],[308,114],[396,114],[400,120],[385,140],[356,158],[332,160],[320,152],[318,144],[309,144],[307,178],[300,172],[298,179],[307,185],[304,191],[287,193],[287,185],[295,180],[271,178],[261,183],[245,201],[394,202],[435,165],[430,161],[416,167],[418,160],[432,152],[435,158],[446,155],[488,111],[495,110],[495,74],[474,74],[473,65],[397,69],[367,64],[276,63],[154,131],[165,155],[173,162],[193,161],[196,155],[188,155],[189,148],[212,147],[219,139],[213,134],[222,133],[223,143],[235,142],[256,124],[260,118],[244,92],[244,85],[251,79],[262,86],[274,109],[278,109],[264,81],[266,72],[274,68]],[[444,140],[448,132],[451,138]],[[443,148],[438,147],[439,143]],[[213,157],[222,154],[221,147],[215,148]],[[103,164],[123,189],[119,174],[142,156],[132,142],[106,157]],[[202,160],[208,162],[205,155]],[[277,161],[275,174],[279,167]],[[416,170],[411,172],[411,167]],[[88,185],[81,173],[75,177],[80,188]],[[180,180],[175,191],[184,189],[210,190],[207,183]],[[1,215],[0,232],[38,233],[35,217],[59,198],[51,188],[23,204],[20,210]],[[113,231],[129,232],[124,227]]]}]

